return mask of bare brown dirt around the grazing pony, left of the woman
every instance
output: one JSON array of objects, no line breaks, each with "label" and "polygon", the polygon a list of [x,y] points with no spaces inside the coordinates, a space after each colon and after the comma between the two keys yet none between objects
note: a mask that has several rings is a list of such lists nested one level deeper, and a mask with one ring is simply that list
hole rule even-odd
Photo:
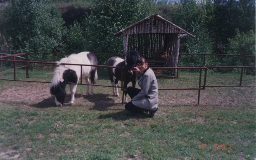
[{"label": "bare brown dirt around the grazing pony, left of the woman", "polygon": [[[64,106],[69,106],[71,95],[69,87],[66,87],[67,95],[64,101]],[[79,89],[78,89],[79,90]],[[84,96],[75,94],[75,104],[78,105],[93,105],[104,104],[104,106],[115,104],[115,100],[107,97],[108,95],[97,94]],[[119,97],[121,102],[121,97]],[[22,86],[3,86],[0,92],[0,103],[19,104],[20,107],[56,107],[55,97],[50,94],[50,83],[23,83]]]}]

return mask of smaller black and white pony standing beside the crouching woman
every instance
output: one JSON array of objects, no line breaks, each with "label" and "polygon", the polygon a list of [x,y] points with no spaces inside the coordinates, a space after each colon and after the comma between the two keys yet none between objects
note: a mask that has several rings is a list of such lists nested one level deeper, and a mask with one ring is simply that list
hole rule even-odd
[{"label": "smaller black and white pony standing beside the crouching woman", "polygon": [[[135,87],[138,72],[133,72],[133,67],[135,67],[135,63],[139,58],[140,58],[140,53],[138,53],[137,51],[129,51],[126,53],[125,60],[120,57],[111,57],[107,61],[108,66],[124,68],[124,72],[123,72],[123,81],[125,82],[124,88],[127,88],[127,85],[130,81],[133,83],[133,87]],[[121,77],[122,69],[108,68],[108,70],[109,70],[109,78],[111,81],[111,85],[117,87],[118,81],[122,80],[122,77]],[[113,87],[113,95],[119,96],[118,89],[116,87]],[[124,103],[127,103],[126,95],[127,93],[125,92]]]}]

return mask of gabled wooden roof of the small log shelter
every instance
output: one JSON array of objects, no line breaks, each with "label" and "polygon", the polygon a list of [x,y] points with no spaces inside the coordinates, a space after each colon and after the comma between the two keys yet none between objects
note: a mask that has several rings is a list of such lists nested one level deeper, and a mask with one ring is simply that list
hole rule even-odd
[{"label": "gabled wooden roof of the small log shelter", "polygon": [[140,34],[140,33],[175,33],[180,35],[189,35],[194,37],[194,35],[185,31],[184,29],[176,26],[175,24],[167,21],[158,14],[152,14],[132,25],[116,32],[114,36],[119,36],[121,34]]}]

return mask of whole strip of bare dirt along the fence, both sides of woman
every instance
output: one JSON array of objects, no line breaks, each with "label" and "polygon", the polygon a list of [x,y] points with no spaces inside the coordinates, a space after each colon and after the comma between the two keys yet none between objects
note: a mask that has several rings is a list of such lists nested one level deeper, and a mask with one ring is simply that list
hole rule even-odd
[{"label": "whole strip of bare dirt along the fence, both sides of woman", "polygon": [[[70,106],[69,87],[66,87],[67,96],[64,107]],[[85,96],[85,86],[78,88],[75,94],[76,106],[90,106],[92,110],[123,110],[122,96],[111,95],[111,88],[96,87],[94,95]],[[198,91],[194,90],[159,90],[159,111],[157,114],[165,114],[175,107],[197,106]],[[130,98],[128,98],[128,101]],[[0,104],[4,106],[17,106],[22,108],[55,107],[55,98],[50,94],[50,83],[23,83],[16,86],[2,86],[0,91]],[[206,88],[201,91],[200,106],[228,107],[251,105],[255,106],[255,88]],[[156,114],[156,115],[157,115]],[[33,122],[31,122],[33,123]]]}]

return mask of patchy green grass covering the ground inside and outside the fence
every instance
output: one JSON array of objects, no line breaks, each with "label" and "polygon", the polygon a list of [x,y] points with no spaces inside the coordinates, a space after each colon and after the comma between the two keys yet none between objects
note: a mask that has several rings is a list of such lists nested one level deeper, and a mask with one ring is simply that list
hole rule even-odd
[{"label": "patchy green grass covering the ground inside and outside the fence", "polygon": [[[29,80],[50,81],[49,72],[29,71]],[[26,79],[24,73],[19,70],[17,77]],[[99,84],[110,85],[107,72],[98,74]],[[207,85],[233,85],[239,76],[212,73]],[[158,83],[159,88],[198,87],[198,79],[198,73],[179,72],[179,79],[158,79]],[[255,77],[244,75],[244,82],[255,84]],[[0,80],[0,92],[26,84]],[[84,95],[84,88],[78,86],[76,94]],[[1,100],[0,148],[5,155],[0,159],[15,155],[24,160],[256,158],[255,87],[206,88],[199,106],[198,91],[161,90],[154,118],[125,111],[121,97],[113,97],[111,90],[96,87],[94,96],[63,107],[54,107],[54,101],[52,107],[35,107],[26,101]]]}]

